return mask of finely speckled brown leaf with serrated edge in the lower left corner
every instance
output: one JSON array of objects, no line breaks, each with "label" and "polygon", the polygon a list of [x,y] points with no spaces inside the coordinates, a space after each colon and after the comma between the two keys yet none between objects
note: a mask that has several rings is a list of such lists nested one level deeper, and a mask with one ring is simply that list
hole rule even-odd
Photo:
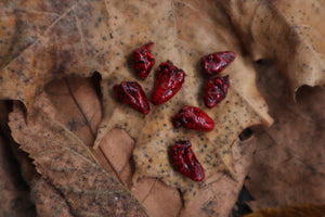
[{"label": "finely speckled brown leaf with serrated edge in the lower left corner", "polygon": [[[57,216],[62,212],[62,215],[66,213],[65,216],[69,213],[73,216],[147,216],[142,204],[100,166],[91,149],[54,119],[58,114],[43,98],[47,97],[41,94],[36,100],[39,102],[36,106],[38,112],[28,124],[23,111],[17,107],[10,114],[9,123],[13,138],[29,153],[36,169],[47,179],[37,180],[38,186],[34,188],[38,214]],[[46,193],[38,189],[44,188],[42,186],[48,186]],[[41,199],[43,204],[38,201]],[[51,201],[61,201],[62,207],[52,207]]]}]

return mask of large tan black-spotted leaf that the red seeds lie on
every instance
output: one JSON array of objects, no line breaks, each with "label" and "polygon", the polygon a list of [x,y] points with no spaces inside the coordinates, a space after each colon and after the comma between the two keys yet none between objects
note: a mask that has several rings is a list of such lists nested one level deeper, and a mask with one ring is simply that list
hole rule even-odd
[{"label": "large tan black-spotted leaf that the red seeds lie on", "polygon": [[[16,17],[15,21],[20,21],[20,25],[26,29],[34,27],[32,22],[20,20],[16,13],[37,15],[39,12],[51,18],[56,15],[56,20],[50,25],[44,24],[43,31],[38,28],[41,24],[36,23],[38,36],[3,67],[1,97],[22,100],[28,112],[32,112],[35,95],[42,91],[49,80],[61,76],[90,76],[94,71],[100,72],[103,77],[104,118],[96,143],[112,128],[128,125],[127,131],[138,142],[134,150],[134,180],[144,176],[161,178],[167,184],[187,192],[184,193],[184,201],[187,202],[198,184],[173,171],[170,166],[166,151],[176,139],[192,140],[207,177],[218,170],[227,170],[235,176],[231,148],[237,135],[249,125],[272,122],[264,101],[255,88],[255,71],[250,60],[243,58],[237,35],[229,27],[231,23],[227,16],[213,1],[81,1],[67,4],[24,1],[4,7],[6,13],[12,12],[9,13],[12,18]],[[11,30],[13,27],[2,33]],[[154,107],[144,118],[129,107],[117,104],[112,98],[112,87],[123,79],[134,79],[128,66],[128,56],[135,47],[147,40],[156,42],[153,51],[157,63],[170,59],[187,76],[177,97],[164,106]],[[204,78],[197,67],[199,58],[220,50],[233,50],[238,54],[225,72],[231,74],[233,87],[227,101],[208,111],[217,123],[224,124],[210,133],[174,130],[169,118],[182,105],[203,107],[199,95]],[[152,89],[153,79],[152,74],[142,84],[147,92]],[[166,127],[161,127],[164,125]],[[157,128],[161,131],[154,132]],[[144,133],[140,133],[139,129],[143,129],[141,132]],[[161,140],[162,144],[157,145],[156,142]],[[142,165],[150,159],[154,159],[153,167],[146,169]],[[188,193],[190,190],[192,193]]]}]

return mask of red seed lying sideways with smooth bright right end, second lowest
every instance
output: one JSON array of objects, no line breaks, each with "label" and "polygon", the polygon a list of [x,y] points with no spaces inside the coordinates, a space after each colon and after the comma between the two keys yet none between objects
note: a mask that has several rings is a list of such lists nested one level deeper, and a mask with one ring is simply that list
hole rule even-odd
[{"label": "red seed lying sideways with smooth bright right end, second lowest", "polygon": [[183,126],[199,131],[211,131],[214,128],[214,122],[207,113],[188,105],[183,106],[176,116],[171,117],[171,120],[177,128]]}]

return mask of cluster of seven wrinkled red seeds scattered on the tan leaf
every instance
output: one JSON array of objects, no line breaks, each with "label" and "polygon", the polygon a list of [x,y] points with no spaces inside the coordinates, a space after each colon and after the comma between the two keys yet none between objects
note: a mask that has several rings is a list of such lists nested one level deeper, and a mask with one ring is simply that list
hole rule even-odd
[{"label": "cluster of seven wrinkled red seeds scattered on the tan leaf", "polygon": [[[148,42],[132,53],[133,66],[136,75],[145,79],[153,65],[155,58],[151,52],[154,42]],[[209,76],[221,73],[235,59],[232,51],[217,52],[202,58],[203,72]],[[155,87],[151,97],[154,105],[161,105],[170,100],[182,87],[185,79],[185,73],[176,67],[170,61],[160,63],[157,68]],[[207,107],[214,107],[221,102],[230,87],[229,76],[211,77],[205,86],[204,101]],[[120,85],[113,87],[115,98],[123,104],[141,112],[148,114],[150,103],[142,87],[136,81],[122,81]],[[214,122],[204,111],[198,107],[183,106],[180,112],[171,117],[174,127],[184,127],[186,129],[211,131],[214,128]],[[177,141],[170,150],[170,156],[173,167],[181,174],[190,177],[194,181],[202,181],[205,173],[192,151],[192,144],[187,141]]]}]

